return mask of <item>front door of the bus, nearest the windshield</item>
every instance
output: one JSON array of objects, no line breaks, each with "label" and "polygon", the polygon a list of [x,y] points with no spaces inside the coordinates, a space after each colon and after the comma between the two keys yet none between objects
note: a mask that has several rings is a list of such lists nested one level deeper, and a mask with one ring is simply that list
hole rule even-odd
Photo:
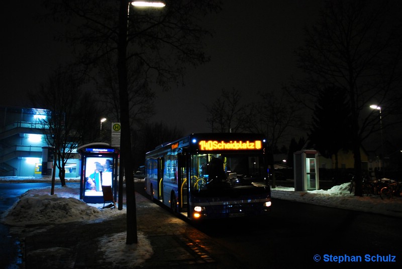
[{"label": "front door of the bus, nearest the windshield", "polygon": [[179,212],[187,212],[188,206],[188,179],[187,158],[184,153],[178,154],[178,209]]}]

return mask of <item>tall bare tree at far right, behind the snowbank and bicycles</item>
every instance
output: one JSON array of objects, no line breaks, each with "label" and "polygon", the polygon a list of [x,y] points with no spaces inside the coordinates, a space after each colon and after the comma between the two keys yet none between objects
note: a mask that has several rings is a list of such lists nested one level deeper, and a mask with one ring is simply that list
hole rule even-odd
[{"label": "tall bare tree at far right, behind the snowbank and bicycles", "polygon": [[386,106],[383,117],[400,111],[399,15],[400,5],[392,1],[328,1],[317,24],[306,30],[305,45],[297,50],[299,68],[306,73],[293,83],[293,96],[300,102],[312,107],[322,88],[347,92],[356,196],[362,195],[362,141],[380,126],[378,116],[373,116],[376,111],[368,106],[374,102]]}]

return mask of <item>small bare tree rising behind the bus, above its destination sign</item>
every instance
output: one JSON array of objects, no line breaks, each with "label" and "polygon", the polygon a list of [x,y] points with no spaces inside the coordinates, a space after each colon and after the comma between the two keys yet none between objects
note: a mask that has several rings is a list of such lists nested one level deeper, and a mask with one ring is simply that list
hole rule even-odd
[{"label": "small bare tree rising behind the bus, above its destination sign", "polygon": [[213,132],[236,132],[242,128],[245,107],[241,106],[241,93],[232,88],[222,89],[221,95],[211,105],[204,104],[209,116],[207,122]]}]

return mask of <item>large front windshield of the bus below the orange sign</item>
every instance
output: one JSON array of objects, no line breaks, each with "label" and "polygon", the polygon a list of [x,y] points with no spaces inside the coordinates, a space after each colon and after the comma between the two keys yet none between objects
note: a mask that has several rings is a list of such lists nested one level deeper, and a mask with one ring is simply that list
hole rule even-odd
[{"label": "large front windshield of the bus below the orange sign", "polygon": [[192,190],[230,189],[266,184],[262,156],[195,154],[191,156]]}]

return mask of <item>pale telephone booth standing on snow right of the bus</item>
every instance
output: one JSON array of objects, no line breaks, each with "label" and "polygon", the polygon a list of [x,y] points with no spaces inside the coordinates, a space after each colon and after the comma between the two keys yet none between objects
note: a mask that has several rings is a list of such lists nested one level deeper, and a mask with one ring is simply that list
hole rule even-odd
[{"label": "pale telephone booth standing on snow right of the bus", "polygon": [[294,190],[313,191],[319,189],[318,152],[304,150],[293,153]]}]

